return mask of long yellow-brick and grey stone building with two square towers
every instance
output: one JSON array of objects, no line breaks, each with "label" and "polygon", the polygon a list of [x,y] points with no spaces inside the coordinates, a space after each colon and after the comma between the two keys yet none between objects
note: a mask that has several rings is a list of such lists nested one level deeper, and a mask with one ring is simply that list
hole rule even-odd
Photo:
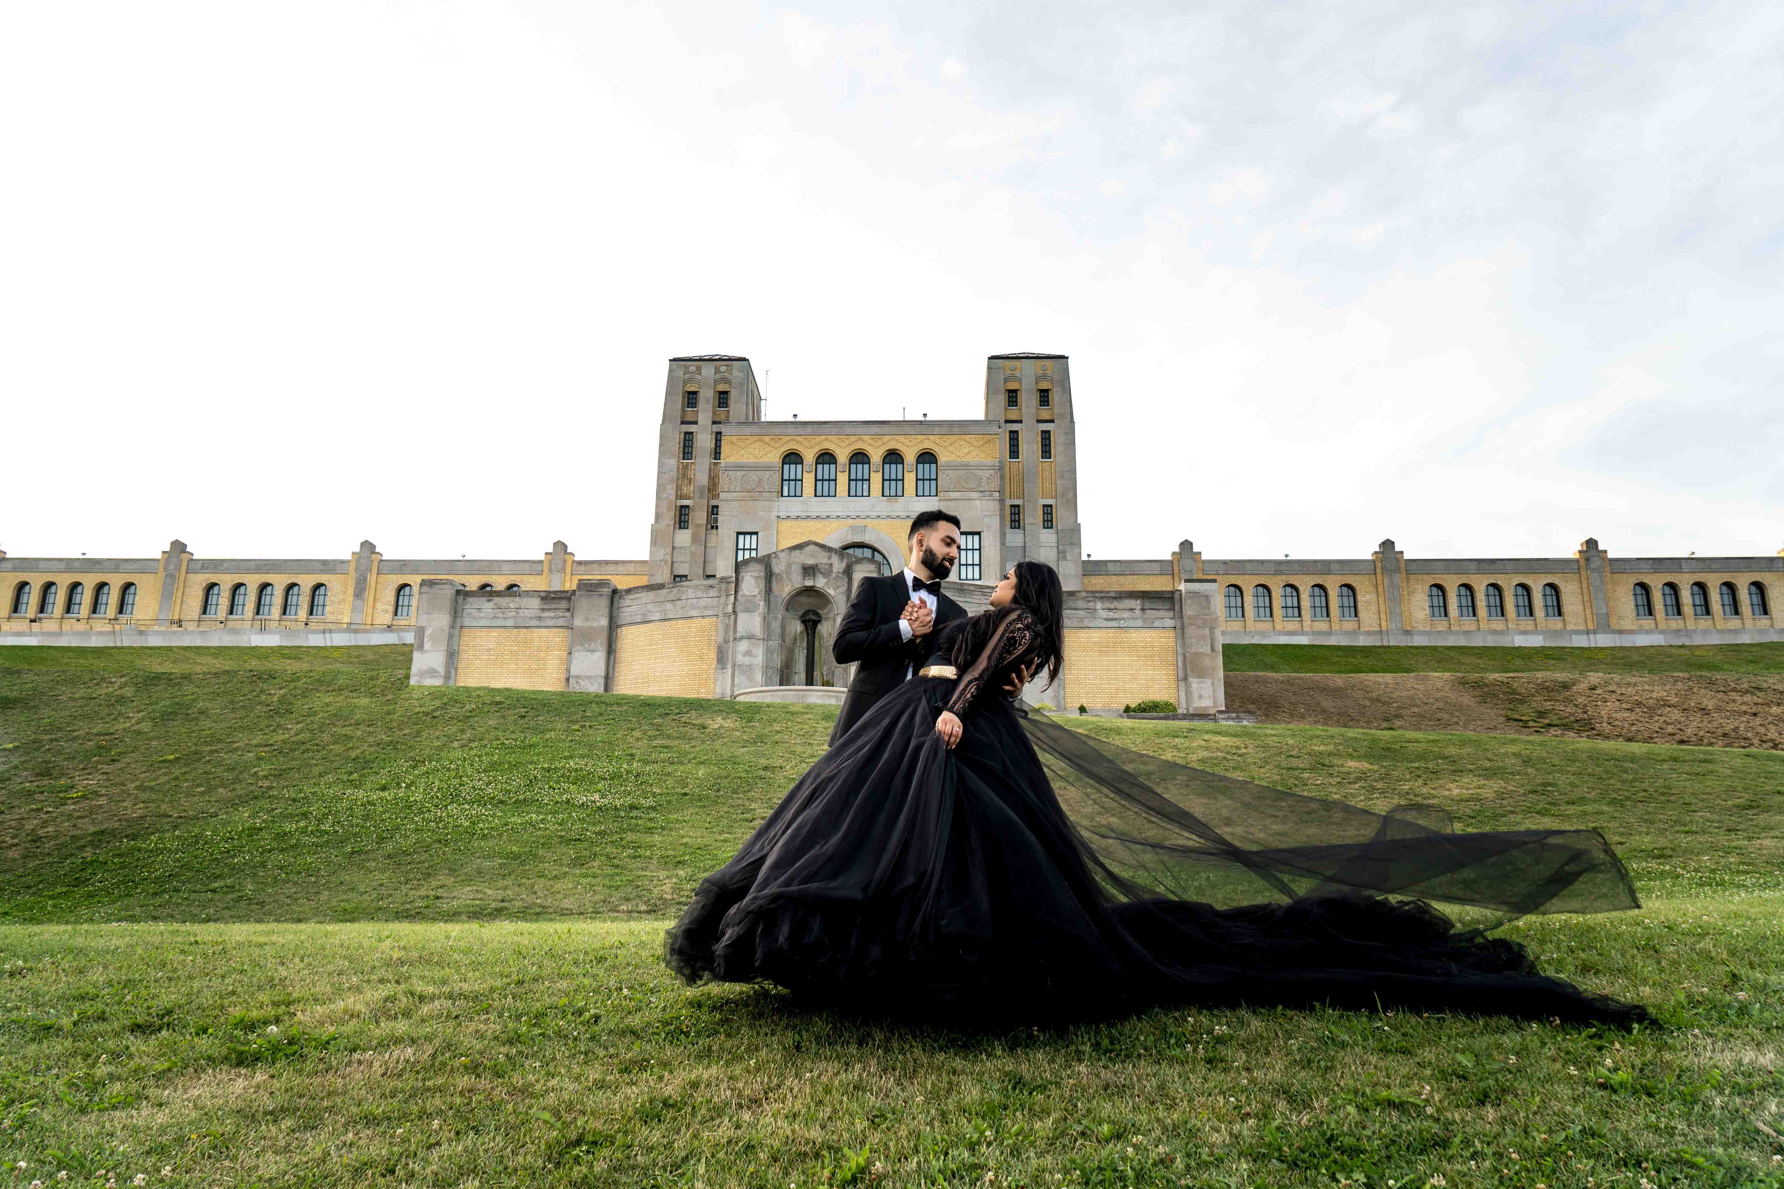
[{"label": "long yellow-brick and grey stone building with two square towers", "polygon": [[[1226,644],[1643,645],[1784,640],[1784,551],[1338,560],[1081,554],[1063,355],[992,355],[983,415],[764,421],[749,360],[669,360],[649,556],[583,560],[7,558],[5,644],[414,642],[416,679],[780,697],[835,690],[828,640],[862,574],[904,563],[922,508],[962,517],[951,583],[983,604],[1022,558],[1067,588],[1053,704],[1224,706]],[[1202,512],[1204,515],[1204,512]]]}]

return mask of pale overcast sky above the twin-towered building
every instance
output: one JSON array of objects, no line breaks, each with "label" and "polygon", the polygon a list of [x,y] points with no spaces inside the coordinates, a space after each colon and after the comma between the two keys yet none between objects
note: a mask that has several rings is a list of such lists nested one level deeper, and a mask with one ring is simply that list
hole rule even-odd
[{"label": "pale overcast sky above the twin-towered building", "polygon": [[1784,5],[12,4],[0,549],[642,558],[1070,355],[1085,549],[1784,547]]}]

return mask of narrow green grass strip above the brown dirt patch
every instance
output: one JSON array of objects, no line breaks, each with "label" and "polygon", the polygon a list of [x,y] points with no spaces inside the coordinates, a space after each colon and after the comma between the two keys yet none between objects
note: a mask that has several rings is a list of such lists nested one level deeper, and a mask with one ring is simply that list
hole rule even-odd
[{"label": "narrow green grass strip above the brown dirt patch", "polygon": [[1602,672],[1602,674],[1777,674],[1784,644],[1716,644],[1652,649],[1504,649],[1340,644],[1229,644],[1227,672]]}]

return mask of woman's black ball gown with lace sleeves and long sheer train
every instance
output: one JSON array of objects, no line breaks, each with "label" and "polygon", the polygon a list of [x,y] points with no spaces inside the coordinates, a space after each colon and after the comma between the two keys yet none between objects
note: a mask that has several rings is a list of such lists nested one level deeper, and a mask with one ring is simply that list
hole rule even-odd
[{"label": "woman's black ball gown with lace sleeves and long sheer train", "polygon": [[[983,615],[1001,619],[965,674],[883,697],[701,881],[665,941],[683,979],[953,1020],[1167,1004],[1650,1018],[1486,934],[1638,907],[1598,831],[1456,832],[1431,806],[1370,813],[1090,738],[1008,701],[1040,638],[1026,611]],[[944,708],[965,724],[953,750]]]}]

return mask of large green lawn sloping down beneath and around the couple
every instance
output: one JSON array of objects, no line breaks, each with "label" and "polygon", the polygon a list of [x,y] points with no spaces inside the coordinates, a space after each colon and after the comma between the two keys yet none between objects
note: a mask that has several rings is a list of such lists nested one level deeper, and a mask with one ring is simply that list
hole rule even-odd
[{"label": "large green lawn sloping down beneath and around the couple", "polygon": [[[78,660],[9,656],[32,652]],[[830,709],[412,690],[407,649],[216,652],[0,649],[21,1189],[1784,1185],[1784,754],[1070,718],[1465,829],[1602,827],[1647,907],[1506,934],[1666,1027],[1161,1011],[949,1034],[660,966],[667,916]]]}]

